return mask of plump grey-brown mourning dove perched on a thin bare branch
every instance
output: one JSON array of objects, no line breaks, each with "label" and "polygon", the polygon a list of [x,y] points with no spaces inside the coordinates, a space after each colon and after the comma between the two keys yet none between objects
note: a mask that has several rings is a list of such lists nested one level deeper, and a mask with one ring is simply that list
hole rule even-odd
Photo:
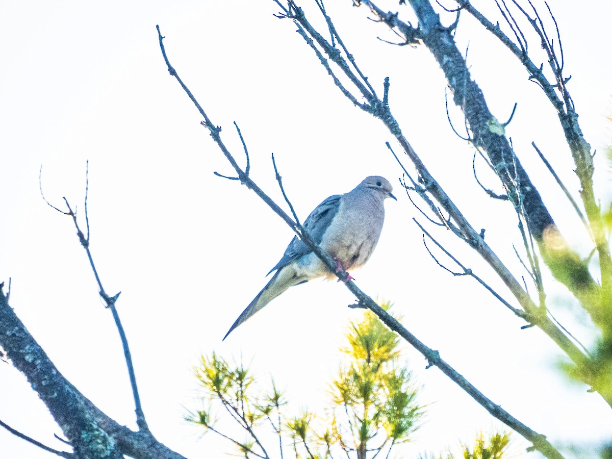
[{"label": "plump grey-brown mourning dove perched on a thin bare branch", "polygon": [[[306,218],[305,230],[334,258],[338,271],[359,268],[372,255],[383,230],[383,202],[386,198],[397,200],[391,191],[391,184],[384,177],[366,177],[350,192],[329,196]],[[270,282],[236,319],[223,340],[289,287],[319,277],[335,277],[297,236],[293,237],[283,257],[268,274],[272,271],[276,273]]]}]

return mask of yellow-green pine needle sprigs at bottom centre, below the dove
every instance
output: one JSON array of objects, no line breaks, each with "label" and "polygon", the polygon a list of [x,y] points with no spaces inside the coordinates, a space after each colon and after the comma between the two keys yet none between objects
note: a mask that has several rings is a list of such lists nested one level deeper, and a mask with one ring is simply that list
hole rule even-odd
[{"label": "yellow-green pine needle sprigs at bottom centre, below the dove", "polygon": [[[274,447],[291,447],[296,458],[329,458],[332,449],[357,459],[383,450],[388,455],[419,427],[423,408],[416,403],[417,389],[406,365],[400,364],[397,335],[373,313],[365,312],[362,320],[351,323],[346,340],[348,345],[340,350],[348,358],[330,381],[331,409],[287,416],[285,397],[274,381],[268,392],[258,391],[248,368],[212,353],[201,357],[194,371],[211,408],[188,411],[185,419],[227,438],[245,458],[267,456],[259,438],[264,430],[277,436]],[[246,432],[246,441],[217,430],[213,406],[221,408],[215,411],[217,417],[233,420]]]}]

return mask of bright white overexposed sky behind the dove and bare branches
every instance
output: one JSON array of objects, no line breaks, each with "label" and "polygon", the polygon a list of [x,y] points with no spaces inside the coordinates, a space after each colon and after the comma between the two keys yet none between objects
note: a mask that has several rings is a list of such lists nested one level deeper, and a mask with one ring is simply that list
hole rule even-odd
[{"label": "bright white overexposed sky behind the dove and bare branches", "polygon": [[[520,247],[510,205],[486,198],[473,179],[472,150],[450,129],[441,70],[425,47],[393,47],[384,26],[348,0],[328,1],[328,12],[371,83],[391,79],[390,104],[412,146],[476,228],[514,269]],[[491,2],[483,1],[491,10]],[[381,2],[397,10],[397,2]],[[494,6],[494,5],[493,5]],[[612,63],[608,59],[608,2],[554,2],[561,28],[569,89],[593,148],[610,143]],[[304,8],[318,18],[316,6]],[[610,439],[610,408],[588,387],[564,381],[550,339],[523,323],[468,278],[435,265],[411,218],[420,218],[384,144],[381,122],[354,108],[335,88],[289,20],[272,16],[272,1],[1,2],[0,154],[2,225],[0,281],[12,278],[11,305],[59,370],[100,409],[135,426],[133,402],[118,334],[97,294],[72,221],[51,203],[62,196],[82,209],[89,160],[91,249],[106,291],[118,301],[135,362],[149,425],[157,438],[190,458],[222,457],[233,449],[182,420],[197,408],[192,365],[202,353],[249,362],[264,383],[274,376],[293,408],[316,409],[337,370],[342,335],[359,310],[335,282],[290,289],[222,343],[244,307],[266,283],[293,236],[285,223],[237,182],[230,165],[200,125],[200,115],[168,75],[155,24],[166,36],[171,63],[223,139],[244,164],[232,122],[248,143],[252,178],[278,203],[282,196],[270,160],[274,152],[286,192],[302,218],[329,195],[381,174],[395,185],[381,242],[357,285],[395,303],[403,323],[495,403],[558,447],[581,444],[584,457]],[[411,9],[400,17],[413,20]],[[451,15],[442,14],[450,24]],[[416,21],[415,21],[416,23]],[[324,29],[321,29],[324,31]],[[517,113],[507,132],[561,231],[584,256],[584,228],[561,198],[531,147],[535,141],[578,197],[578,181],[553,107],[490,34],[465,15],[457,35],[469,43],[468,62],[490,109],[501,122]],[[532,42],[532,47],[538,47]],[[461,113],[451,107],[455,125]],[[397,150],[398,151],[398,150]],[[597,190],[609,201],[610,176],[598,154]],[[408,167],[408,162],[405,163]],[[500,190],[477,165],[480,179]],[[603,172],[602,172],[603,171]],[[420,218],[420,220],[424,220]],[[439,241],[480,277],[510,294],[465,244],[433,229]],[[554,315],[586,343],[588,318],[561,288],[548,283]],[[401,457],[471,441],[498,427],[484,409],[414,349],[405,356],[430,405],[427,422]],[[4,397],[0,419],[62,449],[61,434],[23,375],[0,365]],[[522,455],[515,435],[513,452]],[[0,430],[2,457],[48,458]],[[537,453],[532,453],[535,457]]]}]

